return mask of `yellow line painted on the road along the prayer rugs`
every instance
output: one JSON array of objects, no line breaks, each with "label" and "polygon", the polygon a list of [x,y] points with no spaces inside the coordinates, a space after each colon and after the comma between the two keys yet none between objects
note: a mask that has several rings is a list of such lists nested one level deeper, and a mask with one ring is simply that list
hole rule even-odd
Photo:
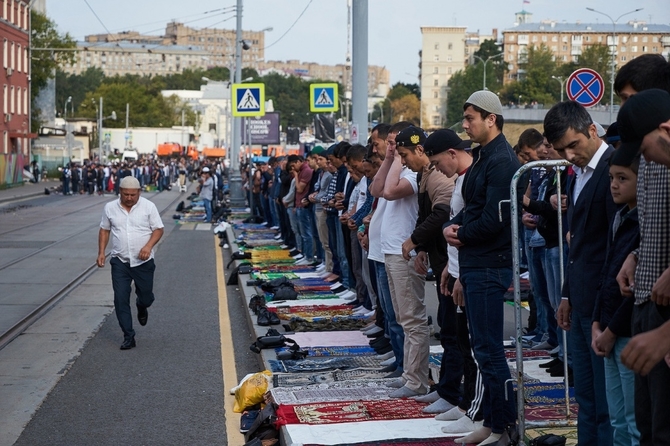
[{"label": "yellow line painted on the road along the prayer rugs", "polygon": [[219,333],[221,335],[221,365],[223,368],[223,409],[226,418],[226,444],[244,444],[244,436],[240,433],[240,415],[233,412],[235,396],[230,389],[237,386],[237,368],[235,367],[235,350],[233,349],[233,332],[230,327],[228,313],[228,293],[226,278],[223,274],[223,255],[219,248],[218,238],[214,238],[216,252],[216,284],[219,296]]}]

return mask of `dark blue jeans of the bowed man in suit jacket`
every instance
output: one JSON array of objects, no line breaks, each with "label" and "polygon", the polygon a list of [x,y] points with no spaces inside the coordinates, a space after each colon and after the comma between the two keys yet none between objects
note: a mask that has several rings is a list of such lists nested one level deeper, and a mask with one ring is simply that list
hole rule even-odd
[{"label": "dark blue jeans of the bowed man in suit jacket", "polygon": [[579,404],[579,444],[610,446],[612,426],[605,396],[605,367],[603,358],[596,356],[591,348],[591,315],[572,311],[568,335],[575,378],[575,399]]}]

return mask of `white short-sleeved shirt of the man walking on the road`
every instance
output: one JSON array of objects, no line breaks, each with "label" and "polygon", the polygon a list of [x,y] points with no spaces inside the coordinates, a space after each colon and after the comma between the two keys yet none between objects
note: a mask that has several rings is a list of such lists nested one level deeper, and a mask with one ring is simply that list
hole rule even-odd
[{"label": "white short-sleeved shirt of the man walking on the road", "polygon": [[147,244],[153,231],[163,227],[163,221],[156,205],[144,197],[140,197],[130,212],[121,206],[121,199],[118,199],[105,205],[100,227],[111,231],[112,257],[130,263],[132,268],[153,259],[153,249],[147,260],[140,260],[140,250]]}]

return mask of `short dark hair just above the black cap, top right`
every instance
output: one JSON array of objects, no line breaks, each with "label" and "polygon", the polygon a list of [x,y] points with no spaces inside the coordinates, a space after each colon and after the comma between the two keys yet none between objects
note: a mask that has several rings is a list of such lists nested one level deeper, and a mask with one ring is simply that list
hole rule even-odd
[{"label": "short dark hair just above the black cap, top right", "polygon": [[670,93],[670,64],[660,54],[643,54],[621,67],[614,79],[619,94],[626,85],[635,91],[660,88]]}]

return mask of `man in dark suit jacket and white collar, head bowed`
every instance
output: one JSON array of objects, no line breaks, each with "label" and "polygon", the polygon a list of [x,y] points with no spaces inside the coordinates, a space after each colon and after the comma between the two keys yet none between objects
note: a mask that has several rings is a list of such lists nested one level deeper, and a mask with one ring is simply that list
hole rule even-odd
[{"label": "man in dark suit jacket and white collar, head bowed", "polygon": [[565,199],[570,250],[556,320],[562,329],[570,330],[568,344],[579,404],[577,436],[579,444],[607,446],[612,444],[612,426],[603,358],[591,349],[591,318],[607,253],[609,221],[616,212],[609,187],[614,148],[598,138],[591,116],[576,102],[553,106],[544,118],[544,133],[559,155],[574,164],[575,172]]}]

